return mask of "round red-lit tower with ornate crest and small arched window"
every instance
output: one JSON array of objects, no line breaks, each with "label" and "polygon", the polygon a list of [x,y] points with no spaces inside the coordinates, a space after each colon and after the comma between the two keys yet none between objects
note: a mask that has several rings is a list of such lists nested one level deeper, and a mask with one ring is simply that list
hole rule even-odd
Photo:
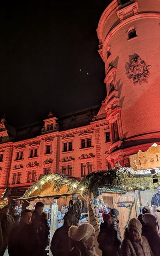
[{"label": "round red-lit tower with ornate crest and small arched window", "polygon": [[107,160],[160,144],[160,1],[113,0],[98,28],[111,145]]}]

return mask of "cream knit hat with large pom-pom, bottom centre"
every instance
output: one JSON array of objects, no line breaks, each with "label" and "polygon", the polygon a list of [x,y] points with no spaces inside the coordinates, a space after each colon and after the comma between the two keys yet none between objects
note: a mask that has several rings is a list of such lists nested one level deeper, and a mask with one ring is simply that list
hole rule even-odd
[{"label": "cream knit hat with large pom-pom, bottom centre", "polygon": [[95,232],[94,227],[89,223],[83,223],[79,227],[71,226],[69,228],[69,237],[74,241],[88,240]]}]

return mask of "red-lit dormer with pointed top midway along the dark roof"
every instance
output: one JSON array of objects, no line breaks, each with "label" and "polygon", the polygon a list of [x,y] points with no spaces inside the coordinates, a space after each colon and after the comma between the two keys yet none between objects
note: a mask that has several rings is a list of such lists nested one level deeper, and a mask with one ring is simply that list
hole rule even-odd
[{"label": "red-lit dormer with pointed top midway along the dark roof", "polygon": [[41,130],[42,134],[53,133],[59,130],[59,125],[57,123],[58,118],[54,117],[52,112],[49,112],[48,118],[44,119],[44,126]]}]

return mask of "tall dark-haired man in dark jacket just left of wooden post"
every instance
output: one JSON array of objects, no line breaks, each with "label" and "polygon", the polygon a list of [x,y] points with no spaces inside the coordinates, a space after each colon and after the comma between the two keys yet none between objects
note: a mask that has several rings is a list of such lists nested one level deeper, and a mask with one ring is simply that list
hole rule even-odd
[{"label": "tall dark-haired man in dark jacket just left of wooden post", "polygon": [[39,256],[45,255],[45,248],[48,245],[48,214],[43,212],[44,204],[37,202],[35,210],[32,213],[32,224],[34,225],[38,238],[40,240],[40,254]]}]

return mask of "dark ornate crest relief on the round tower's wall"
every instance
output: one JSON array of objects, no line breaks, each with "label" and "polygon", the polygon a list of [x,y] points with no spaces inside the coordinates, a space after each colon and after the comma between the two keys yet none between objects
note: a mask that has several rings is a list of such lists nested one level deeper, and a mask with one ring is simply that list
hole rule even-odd
[{"label": "dark ornate crest relief on the round tower's wall", "polygon": [[133,80],[133,84],[141,84],[142,82],[147,82],[149,69],[150,65],[137,56],[131,60],[127,76]]}]

